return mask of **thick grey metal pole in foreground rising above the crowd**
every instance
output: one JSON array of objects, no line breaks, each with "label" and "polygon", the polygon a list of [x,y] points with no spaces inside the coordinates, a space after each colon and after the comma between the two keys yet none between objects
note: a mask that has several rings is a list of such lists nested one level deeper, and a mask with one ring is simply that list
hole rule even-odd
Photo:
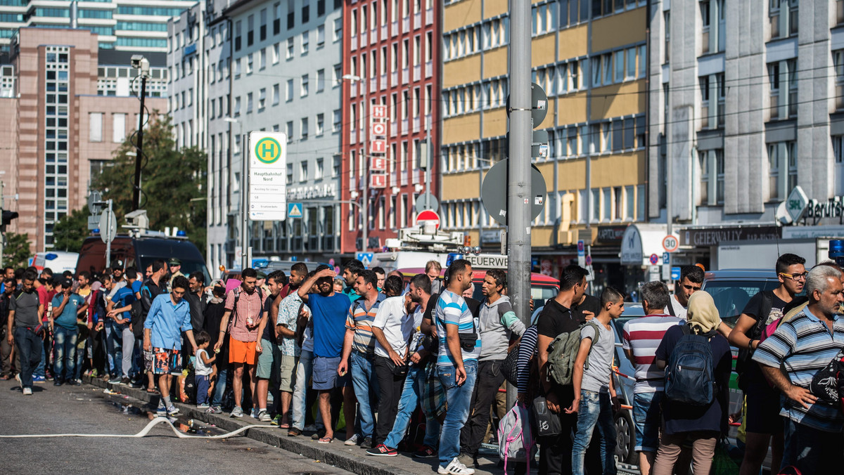
[{"label": "thick grey metal pole in foreground rising above the crowd", "polygon": [[[516,315],[530,325],[531,3],[510,2],[510,161],[507,176],[508,290]],[[507,386],[507,406],[516,388]]]}]

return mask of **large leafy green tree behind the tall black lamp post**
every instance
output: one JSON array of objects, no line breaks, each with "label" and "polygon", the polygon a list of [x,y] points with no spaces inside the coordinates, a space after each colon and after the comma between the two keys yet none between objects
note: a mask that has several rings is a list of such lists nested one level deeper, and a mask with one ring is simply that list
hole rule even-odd
[{"label": "large leafy green tree behind the tall black lamp post", "polygon": [[[147,210],[150,229],[178,227],[200,250],[205,249],[206,175],[208,159],[197,147],[176,148],[170,116],[153,111],[143,127],[140,208]],[[93,179],[91,187],[113,200],[117,222],[132,209],[136,135],[130,135],[114,153],[110,166]]]}]

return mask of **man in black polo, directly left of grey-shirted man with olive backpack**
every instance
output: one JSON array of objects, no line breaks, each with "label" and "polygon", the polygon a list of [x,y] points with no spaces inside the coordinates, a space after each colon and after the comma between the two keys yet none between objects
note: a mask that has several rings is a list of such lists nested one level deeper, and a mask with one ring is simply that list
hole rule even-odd
[{"label": "man in black polo, directly left of grey-shirted man with olive backpack", "polygon": [[[586,291],[588,271],[580,266],[565,267],[560,275],[560,292],[548,300],[537,319],[539,351],[539,383],[552,413],[560,418],[560,435],[538,437],[542,450],[539,451],[539,472],[548,474],[571,473],[571,432],[576,429],[577,415],[566,414],[563,408],[571,406],[574,400],[572,386],[560,386],[549,381],[548,346],[560,333],[576,330],[584,321],[578,319],[571,307],[581,302]],[[582,317],[581,317],[582,318]]]}]

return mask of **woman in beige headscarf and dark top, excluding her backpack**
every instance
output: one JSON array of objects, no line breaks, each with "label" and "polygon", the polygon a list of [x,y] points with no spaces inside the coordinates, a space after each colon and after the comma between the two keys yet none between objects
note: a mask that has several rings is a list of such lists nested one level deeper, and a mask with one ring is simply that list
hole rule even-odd
[{"label": "woman in beige headscarf and dark top, excluding her backpack", "polygon": [[665,367],[680,339],[687,333],[706,337],[712,351],[713,377],[716,382],[714,397],[706,405],[692,405],[663,397],[665,430],[659,441],[653,475],[671,475],[680,449],[686,442],[692,446],[694,472],[709,473],[718,440],[728,429],[728,385],[733,357],[727,338],[717,332],[721,317],[710,294],[703,291],[692,294],[689,298],[688,319],[687,330],[679,325],[665,332],[657,348],[657,365]]}]

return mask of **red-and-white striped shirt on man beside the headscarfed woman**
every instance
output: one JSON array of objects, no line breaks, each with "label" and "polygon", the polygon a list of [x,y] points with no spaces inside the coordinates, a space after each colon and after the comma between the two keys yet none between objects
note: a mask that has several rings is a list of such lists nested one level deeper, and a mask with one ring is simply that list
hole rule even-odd
[{"label": "red-and-white striped shirt on man beside the headscarfed woman", "polygon": [[636,368],[634,394],[663,391],[665,370],[657,368],[657,348],[668,328],[684,322],[676,316],[648,315],[625,323],[622,348],[633,353],[633,366]]}]

